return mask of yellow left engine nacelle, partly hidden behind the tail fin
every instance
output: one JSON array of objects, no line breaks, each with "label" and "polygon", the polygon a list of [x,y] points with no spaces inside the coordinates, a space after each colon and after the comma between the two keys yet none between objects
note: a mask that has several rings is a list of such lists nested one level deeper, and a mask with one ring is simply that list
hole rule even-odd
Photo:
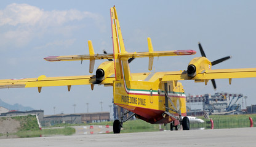
[{"label": "yellow left engine nacelle, partly hidden behind the tail fin", "polygon": [[114,62],[106,61],[100,64],[96,70],[96,81],[100,83],[105,80],[106,77],[110,77],[114,74]]}]

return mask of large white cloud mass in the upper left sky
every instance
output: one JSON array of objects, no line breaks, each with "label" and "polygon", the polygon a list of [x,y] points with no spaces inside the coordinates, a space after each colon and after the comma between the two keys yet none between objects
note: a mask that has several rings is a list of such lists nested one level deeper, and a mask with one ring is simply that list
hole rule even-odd
[{"label": "large white cloud mass in the upper left sky", "polygon": [[4,40],[0,42],[0,47],[26,45],[35,37],[42,37],[50,28],[71,28],[65,31],[70,33],[75,27],[68,26],[67,23],[83,19],[92,19],[101,31],[105,29],[102,16],[92,12],[81,12],[76,9],[46,11],[29,4],[10,4],[0,10],[0,39]]}]

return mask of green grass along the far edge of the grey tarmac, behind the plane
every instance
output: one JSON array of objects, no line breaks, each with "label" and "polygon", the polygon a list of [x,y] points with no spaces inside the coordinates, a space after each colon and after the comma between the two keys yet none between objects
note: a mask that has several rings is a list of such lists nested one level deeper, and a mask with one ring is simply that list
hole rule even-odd
[{"label": "green grass along the far edge of the grey tarmac, behind the plane", "polygon": [[[234,128],[234,127],[250,127],[249,117],[256,121],[255,115],[210,115],[210,119],[214,120],[214,129],[223,129],[223,128]],[[210,119],[205,119],[202,116],[198,116],[205,121],[201,124],[190,124],[191,128],[205,127],[206,129],[210,128]],[[38,129],[38,124],[35,117],[27,116],[18,116],[13,117],[21,122],[21,129],[17,132],[18,137],[40,137],[51,136],[51,135],[72,135],[75,133],[75,129],[71,126],[87,126],[87,125],[110,125],[113,126],[113,121],[107,121],[102,123],[90,123],[90,124],[57,124],[52,127],[64,127],[62,129]],[[256,125],[254,125],[255,127]],[[170,124],[166,126],[161,124],[161,128],[165,130],[170,130]],[[159,131],[159,124],[150,124],[137,119],[135,121],[126,121],[123,124],[123,130],[121,133],[131,133],[131,132],[153,132]]]}]

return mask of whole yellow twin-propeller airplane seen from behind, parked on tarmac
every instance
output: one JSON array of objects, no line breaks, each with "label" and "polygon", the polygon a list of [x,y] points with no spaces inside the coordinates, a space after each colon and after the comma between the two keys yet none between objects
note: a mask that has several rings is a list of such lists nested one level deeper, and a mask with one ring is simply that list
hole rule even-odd
[{"label": "whole yellow twin-propeller airplane seen from behind, parked on tarmac", "polygon": [[[228,78],[231,84],[232,78],[256,77],[256,68],[251,69],[211,69],[230,56],[217,61],[210,62],[206,58],[201,43],[199,49],[202,57],[194,58],[188,64],[188,69],[177,72],[143,72],[130,73],[129,62],[134,58],[149,58],[148,69],[152,69],[153,59],[156,56],[185,56],[194,55],[194,50],[175,51],[153,51],[151,39],[148,38],[147,52],[128,53],[125,50],[119,25],[118,14],[115,7],[110,9],[111,29],[113,36],[113,54],[95,54],[92,42],[88,41],[89,55],[74,56],[49,56],[46,61],[83,61],[89,60],[89,72],[94,71],[96,59],[108,59],[98,66],[95,75],[82,75],[71,77],[46,77],[41,75],[38,78],[25,78],[20,80],[7,79],[0,80],[0,88],[31,88],[38,87],[41,92],[44,86],[67,86],[70,91],[72,85],[95,84],[113,86],[114,104],[125,108],[126,113],[122,113],[120,119],[114,121],[113,132],[119,134],[122,124],[132,116],[136,116],[151,124],[170,123],[170,129],[177,130],[182,124],[183,130],[190,129],[190,121],[186,117],[186,97],[180,80],[194,80],[204,82],[207,85],[212,81],[214,88],[215,78]],[[132,115],[124,119],[129,112]]]}]

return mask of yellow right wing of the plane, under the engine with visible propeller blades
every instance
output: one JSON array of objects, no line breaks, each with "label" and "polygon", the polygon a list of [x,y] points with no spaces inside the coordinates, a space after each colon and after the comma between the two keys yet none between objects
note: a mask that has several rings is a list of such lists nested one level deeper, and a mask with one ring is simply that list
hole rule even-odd
[{"label": "yellow right wing of the plane, under the engine with visible propeller blades", "polygon": [[195,77],[188,77],[186,71],[180,72],[163,72],[159,74],[162,76],[162,81],[172,80],[195,80],[205,81],[217,78],[252,78],[256,77],[256,68],[250,69],[212,69],[206,72],[197,74]]}]

